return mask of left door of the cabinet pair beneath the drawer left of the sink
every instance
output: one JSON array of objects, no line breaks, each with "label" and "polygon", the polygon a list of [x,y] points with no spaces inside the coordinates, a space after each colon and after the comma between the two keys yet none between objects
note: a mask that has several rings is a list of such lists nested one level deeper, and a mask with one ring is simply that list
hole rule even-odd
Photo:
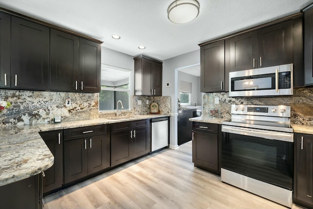
[{"label": "left door of the cabinet pair beneath the drawer left of the sink", "polygon": [[64,142],[64,183],[88,175],[87,139]]}]

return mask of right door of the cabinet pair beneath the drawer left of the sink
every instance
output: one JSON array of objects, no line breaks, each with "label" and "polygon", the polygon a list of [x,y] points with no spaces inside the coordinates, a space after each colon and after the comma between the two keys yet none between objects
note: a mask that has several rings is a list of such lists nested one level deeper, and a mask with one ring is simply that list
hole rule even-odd
[{"label": "right door of the cabinet pair beneath the drawer left of the sink", "polygon": [[110,167],[110,135],[94,136],[88,142],[88,175]]}]

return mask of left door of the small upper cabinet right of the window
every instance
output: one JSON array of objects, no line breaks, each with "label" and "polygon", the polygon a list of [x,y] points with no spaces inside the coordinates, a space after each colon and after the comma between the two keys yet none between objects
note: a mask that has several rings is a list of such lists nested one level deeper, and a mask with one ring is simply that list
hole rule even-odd
[{"label": "left door of the small upper cabinet right of the window", "polygon": [[142,95],[150,96],[153,94],[151,86],[153,65],[152,60],[142,58]]}]

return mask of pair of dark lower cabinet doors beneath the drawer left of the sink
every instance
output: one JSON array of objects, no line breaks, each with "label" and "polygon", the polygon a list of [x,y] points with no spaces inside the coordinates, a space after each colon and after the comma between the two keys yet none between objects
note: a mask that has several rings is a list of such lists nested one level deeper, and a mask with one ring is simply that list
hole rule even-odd
[{"label": "pair of dark lower cabinet doors beneath the drawer left of the sink", "polygon": [[110,167],[110,135],[64,141],[64,183]]}]

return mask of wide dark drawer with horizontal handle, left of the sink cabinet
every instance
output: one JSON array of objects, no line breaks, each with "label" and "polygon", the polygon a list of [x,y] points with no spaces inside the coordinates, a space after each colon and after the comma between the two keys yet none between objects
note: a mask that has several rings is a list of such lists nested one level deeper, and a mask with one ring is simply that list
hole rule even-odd
[{"label": "wide dark drawer with horizontal handle, left of the sink cabinet", "polygon": [[107,125],[95,125],[64,130],[64,140],[80,139],[107,133]]}]

